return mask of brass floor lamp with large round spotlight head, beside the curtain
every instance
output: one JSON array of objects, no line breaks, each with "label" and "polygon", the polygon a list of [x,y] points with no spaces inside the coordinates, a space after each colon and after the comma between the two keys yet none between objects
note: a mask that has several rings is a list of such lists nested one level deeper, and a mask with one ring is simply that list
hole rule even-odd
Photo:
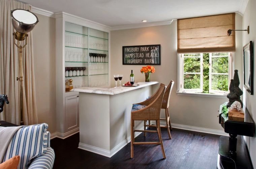
[{"label": "brass floor lamp with large round spotlight head, beside the curtain", "polygon": [[[34,26],[38,23],[37,16],[30,12],[29,10],[24,9],[14,9],[11,11],[11,23],[16,32],[13,33],[13,36],[17,40],[17,44],[14,41],[14,44],[19,49],[19,74],[20,77],[17,77],[17,81],[20,82],[20,116],[21,123],[20,125],[24,125],[23,120],[23,58],[22,58],[22,50],[27,45],[27,37],[28,33],[32,31]],[[24,41],[26,38],[25,45],[21,45],[20,41]],[[19,45],[18,45],[19,44]]]}]

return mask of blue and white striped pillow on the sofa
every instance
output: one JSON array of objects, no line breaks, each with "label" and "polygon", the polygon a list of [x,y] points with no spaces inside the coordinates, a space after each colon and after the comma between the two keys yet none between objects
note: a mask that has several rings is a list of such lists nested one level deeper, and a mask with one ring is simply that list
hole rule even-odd
[{"label": "blue and white striped pillow on the sofa", "polygon": [[24,169],[31,161],[47,151],[46,123],[24,126],[12,137],[3,162],[13,156],[21,157],[18,169]]}]

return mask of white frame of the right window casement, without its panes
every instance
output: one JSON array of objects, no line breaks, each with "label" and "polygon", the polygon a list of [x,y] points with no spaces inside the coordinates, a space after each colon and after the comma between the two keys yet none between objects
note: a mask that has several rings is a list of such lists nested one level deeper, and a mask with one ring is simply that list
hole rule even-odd
[{"label": "white frame of the right window casement, without its panes", "polygon": [[[223,56],[213,56],[213,53],[209,53],[209,93],[225,93],[227,94],[228,91],[223,91],[223,90],[213,90],[212,89],[212,75],[228,75],[228,87],[229,87],[229,82],[231,80],[231,58],[232,58],[232,53],[228,52],[228,55],[223,55]],[[228,57],[228,73],[212,73],[212,58],[216,57]]]}]

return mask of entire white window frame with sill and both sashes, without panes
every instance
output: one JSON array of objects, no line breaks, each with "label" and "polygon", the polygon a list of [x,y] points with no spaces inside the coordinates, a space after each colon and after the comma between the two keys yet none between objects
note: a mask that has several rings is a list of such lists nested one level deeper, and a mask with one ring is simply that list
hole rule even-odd
[{"label": "entire white window frame with sill and both sashes, without panes", "polygon": [[[203,53],[210,53],[210,52],[203,52]],[[208,95],[210,97],[218,97],[220,96],[220,98],[226,97],[225,95],[229,92],[228,91],[220,91],[220,90],[212,90],[212,92],[210,91],[210,66],[212,66],[212,60],[210,62],[210,56],[209,56],[209,93],[202,93],[203,91],[203,53],[200,53],[200,89],[184,89],[184,54],[179,54],[178,53],[178,91],[177,93],[179,95],[184,95],[186,93],[188,93],[188,95],[190,94],[197,94],[198,95],[202,95],[202,96],[206,96],[208,97]],[[211,53],[212,54],[212,53]],[[187,56],[185,56],[187,57]],[[190,57],[199,57],[199,56],[190,56]],[[228,86],[231,80],[231,75],[232,75],[232,57],[233,57],[233,53],[229,52],[229,57],[228,57]],[[212,68],[211,68],[212,70]],[[186,73],[185,73],[186,74]],[[211,78],[212,79],[212,78]],[[212,80],[211,80],[212,81]],[[213,94],[212,94],[213,93]]]}]

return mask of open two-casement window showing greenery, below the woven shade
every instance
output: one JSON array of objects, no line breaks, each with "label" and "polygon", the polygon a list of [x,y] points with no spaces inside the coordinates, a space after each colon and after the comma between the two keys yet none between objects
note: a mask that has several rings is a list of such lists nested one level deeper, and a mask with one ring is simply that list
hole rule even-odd
[{"label": "open two-casement window showing greenery, below the woven shade", "polygon": [[228,93],[231,53],[186,53],[180,58],[180,92]]}]

